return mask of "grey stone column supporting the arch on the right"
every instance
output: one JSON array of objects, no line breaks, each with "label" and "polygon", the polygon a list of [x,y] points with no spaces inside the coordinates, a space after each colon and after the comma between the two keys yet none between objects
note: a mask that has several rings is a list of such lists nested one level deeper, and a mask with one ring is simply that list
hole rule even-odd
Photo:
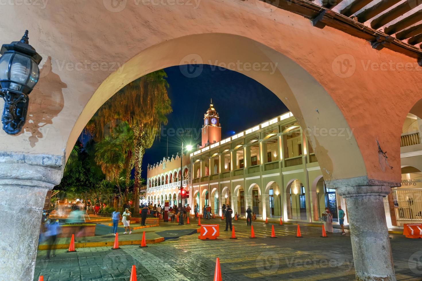
[{"label": "grey stone column supporting the arch on the right", "polygon": [[395,281],[394,266],[384,212],[384,197],[399,183],[366,177],[329,183],[346,199],[354,268],[357,280]]}]

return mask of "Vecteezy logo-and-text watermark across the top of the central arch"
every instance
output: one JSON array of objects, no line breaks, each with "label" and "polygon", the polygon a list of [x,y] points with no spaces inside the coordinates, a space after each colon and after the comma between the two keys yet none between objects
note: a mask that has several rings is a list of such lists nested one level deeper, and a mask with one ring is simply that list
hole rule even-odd
[{"label": "Vecteezy logo-and-text watermark across the top of the central arch", "polygon": [[269,74],[274,74],[277,70],[278,62],[242,62],[236,60],[234,62],[219,62],[218,60],[204,61],[198,54],[188,54],[184,56],[180,63],[180,72],[187,78],[198,77],[203,71],[203,64],[209,64],[211,71],[216,69],[220,71],[235,70],[235,71],[264,71]]}]

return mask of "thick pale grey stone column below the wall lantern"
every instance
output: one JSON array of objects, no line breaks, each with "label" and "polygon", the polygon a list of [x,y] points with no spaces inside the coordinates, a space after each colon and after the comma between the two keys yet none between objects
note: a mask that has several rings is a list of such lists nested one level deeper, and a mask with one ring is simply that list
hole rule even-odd
[{"label": "thick pale grey stone column below the wall lantern", "polygon": [[33,280],[46,193],[60,183],[64,163],[63,156],[0,153],[1,280]]}]

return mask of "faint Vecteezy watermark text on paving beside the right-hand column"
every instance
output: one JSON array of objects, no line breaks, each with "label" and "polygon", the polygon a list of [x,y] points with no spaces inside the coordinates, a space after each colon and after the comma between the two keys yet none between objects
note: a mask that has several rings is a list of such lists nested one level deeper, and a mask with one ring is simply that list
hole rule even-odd
[{"label": "faint Vecteezy watermark text on paving beside the right-hand column", "polygon": [[313,259],[300,259],[297,257],[284,257],[284,261],[286,262],[287,267],[301,267],[301,268],[335,268],[335,267],[342,267],[346,265],[347,268],[344,270],[349,271],[352,270],[353,267],[353,260],[347,259],[317,259],[314,257]]}]

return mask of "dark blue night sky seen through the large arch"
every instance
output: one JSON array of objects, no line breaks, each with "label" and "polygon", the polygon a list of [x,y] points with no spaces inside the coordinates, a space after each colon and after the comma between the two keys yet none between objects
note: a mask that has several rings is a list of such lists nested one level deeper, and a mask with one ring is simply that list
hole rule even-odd
[{"label": "dark blue night sky seen through the large arch", "polygon": [[192,137],[184,137],[185,142],[191,142],[194,147],[200,143],[200,128],[211,98],[219,113],[222,139],[234,134],[233,131],[243,131],[288,111],[270,90],[235,71],[205,64],[201,74],[195,78],[183,75],[184,70],[181,71],[179,66],[168,67],[165,72],[168,75],[168,95],[173,112],[168,115],[168,124],[163,126],[160,140],[157,139],[146,150],[142,171],[144,179],[148,163],[160,162],[163,157],[180,151],[181,138],[172,134],[171,129],[190,130]]}]

